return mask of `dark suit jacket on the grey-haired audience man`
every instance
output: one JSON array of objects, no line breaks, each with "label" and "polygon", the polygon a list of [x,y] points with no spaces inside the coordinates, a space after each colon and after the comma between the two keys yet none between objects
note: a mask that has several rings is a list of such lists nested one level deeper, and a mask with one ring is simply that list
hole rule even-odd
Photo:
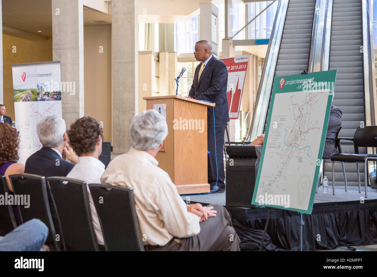
[{"label": "dark suit jacket on the grey-haired audience man", "polygon": [[51,148],[42,147],[26,160],[25,173],[37,174],[46,178],[51,176],[65,177],[73,167],[74,164],[61,159],[58,153]]}]

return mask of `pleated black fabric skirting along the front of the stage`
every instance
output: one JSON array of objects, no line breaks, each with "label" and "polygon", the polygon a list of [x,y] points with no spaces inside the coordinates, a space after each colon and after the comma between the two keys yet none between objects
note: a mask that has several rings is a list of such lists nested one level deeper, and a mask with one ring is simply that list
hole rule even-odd
[{"label": "pleated black fabric skirting along the front of the stage", "polygon": [[[268,208],[225,207],[241,239],[241,251],[259,250]],[[342,245],[377,244],[377,200],[317,203],[312,214],[303,214],[304,251],[328,250]],[[274,209],[263,251],[297,251],[300,215]]]}]

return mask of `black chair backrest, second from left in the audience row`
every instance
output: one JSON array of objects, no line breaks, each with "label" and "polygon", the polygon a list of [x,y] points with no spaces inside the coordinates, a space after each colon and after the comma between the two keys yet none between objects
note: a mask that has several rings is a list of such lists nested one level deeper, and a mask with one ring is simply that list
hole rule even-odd
[{"label": "black chair backrest, second from left in the audience row", "polygon": [[[35,174],[23,173],[9,175],[9,179],[11,180],[15,195],[23,195],[24,197],[30,196],[28,203],[29,207],[20,204],[18,205],[21,221],[24,223],[33,218],[40,219],[49,228],[49,235],[46,243],[54,243],[55,249],[60,251],[60,245],[55,239],[56,231],[51,216],[45,178]],[[57,220],[59,220],[59,218],[57,218]],[[57,222],[57,224],[59,224],[59,222]],[[59,234],[59,241],[64,245],[63,234]]]}]

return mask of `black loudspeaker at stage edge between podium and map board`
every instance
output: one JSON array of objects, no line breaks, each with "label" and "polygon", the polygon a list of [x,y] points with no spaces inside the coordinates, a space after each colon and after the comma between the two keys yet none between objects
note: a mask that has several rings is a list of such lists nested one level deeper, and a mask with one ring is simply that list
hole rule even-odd
[{"label": "black loudspeaker at stage edge between podium and map board", "polygon": [[262,145],[226,145],[229,159],[225,166],[225,205],[253,208],[255,181],[257,178]]}]

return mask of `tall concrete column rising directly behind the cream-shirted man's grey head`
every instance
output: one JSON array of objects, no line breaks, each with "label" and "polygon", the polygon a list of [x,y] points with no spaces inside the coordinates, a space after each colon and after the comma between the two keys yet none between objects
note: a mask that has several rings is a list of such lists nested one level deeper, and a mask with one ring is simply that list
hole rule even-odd
[{"label": "tall concrete column rising directly behind the cream-shirted man's grey head", "polygon": [[131,146],[130,124],[138,113],[137,0],[112,0],[113,153]]}]

